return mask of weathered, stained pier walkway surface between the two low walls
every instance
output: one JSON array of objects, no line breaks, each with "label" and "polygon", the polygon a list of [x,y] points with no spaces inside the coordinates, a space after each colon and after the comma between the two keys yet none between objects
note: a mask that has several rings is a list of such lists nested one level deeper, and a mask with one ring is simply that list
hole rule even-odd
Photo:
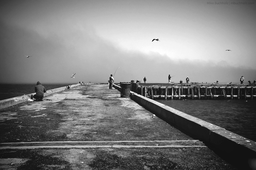
[{"label": "weathered, stained pier walkway surface between the two low walls", "polygon": [[[0,110],[0,169],[235,170],[239,166],[164,120],[152,118],[151,112],[130,98],[120,98],[120,92],[108,85],[77,86],[47,98]],[[25,146],[38,148],[22,149]]]}]

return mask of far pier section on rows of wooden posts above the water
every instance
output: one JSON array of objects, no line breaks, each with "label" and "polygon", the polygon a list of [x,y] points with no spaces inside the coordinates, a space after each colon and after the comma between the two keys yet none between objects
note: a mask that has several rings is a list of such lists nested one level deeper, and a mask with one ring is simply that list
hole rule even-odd
[{"label": "far pier section on rows of wooden posts above the water", "polygon": [[151,99],[256,99],[256,86],[139,86],[131,91]]}]

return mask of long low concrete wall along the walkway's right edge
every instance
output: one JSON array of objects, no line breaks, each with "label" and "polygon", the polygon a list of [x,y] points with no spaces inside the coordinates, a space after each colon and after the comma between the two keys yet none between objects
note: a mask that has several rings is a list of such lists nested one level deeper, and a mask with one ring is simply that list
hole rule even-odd
[{"label": "long low concrete wall along the walkway's right edge", "polygon": [[189,132],[198,139],[208,142],[224,154],[240,158],[244,160],[243,162],[250,158],[256,158],[256,142],[252,140],[134,92],[131,92],[130,97],[144,108],[154,112],[158,117]]}]

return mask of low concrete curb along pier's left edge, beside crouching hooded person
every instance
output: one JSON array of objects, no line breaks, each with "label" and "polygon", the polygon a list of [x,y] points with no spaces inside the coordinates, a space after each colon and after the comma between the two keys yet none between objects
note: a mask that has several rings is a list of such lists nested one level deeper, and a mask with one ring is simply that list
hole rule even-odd
[{"label": "low concrete curb along pier's left edge, beside crouching hooded person", "polygon": [[[71,88],[73,87],[76,87],[76,86],[80,86],[81,84],[78,83],[78,84],[73,84],[73,85],[70,85]],[[49,96],[50,94],[52,93],[56,93],[56,92],[60,92],[60,91],[63,91],[67,89],[67,87],[60,87],[60,88],[54,88],[52,89],[52,91],[50,90],[47,90],[46,93],[44,93],[44,96]],[[36,93],[31,93],[32,95],[36,94]],[[5,100],[0,100],[0,109],[3,109],[3,108],[8,108],[10,106],[13,106],[15,104],[19,104],[19,103],[22,103],[22,102],[27,102],[30,100],[30,96],[31,94],[24,94],[23,96],[18,96],[18,97],[14,97],[14,98],[8,98],[8,99],[5,99]]]}]

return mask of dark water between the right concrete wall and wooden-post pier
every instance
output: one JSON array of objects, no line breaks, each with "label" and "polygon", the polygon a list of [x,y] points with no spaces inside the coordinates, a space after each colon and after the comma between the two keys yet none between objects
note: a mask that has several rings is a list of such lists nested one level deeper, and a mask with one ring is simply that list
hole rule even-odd
[{"label": "dark water between the right concrete wall and wooden-post pier", "polygon": [[156,100],[256,141],[256,100]]}]

